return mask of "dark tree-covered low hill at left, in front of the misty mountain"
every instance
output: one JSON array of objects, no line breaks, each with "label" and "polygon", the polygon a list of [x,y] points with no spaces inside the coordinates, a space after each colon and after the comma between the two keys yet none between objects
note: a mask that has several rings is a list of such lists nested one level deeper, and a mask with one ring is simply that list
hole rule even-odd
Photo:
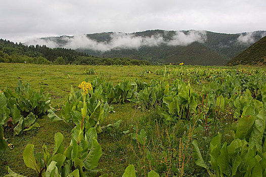
[{"label": "dark tree-covered low hill at left, in front of the misty mountain", "polygon": [[76,65],[149,65],[148,61],[129,58],[101,58],[72,49],[50,49],[43,46],[24,46],[0,39],[0,62]]}]

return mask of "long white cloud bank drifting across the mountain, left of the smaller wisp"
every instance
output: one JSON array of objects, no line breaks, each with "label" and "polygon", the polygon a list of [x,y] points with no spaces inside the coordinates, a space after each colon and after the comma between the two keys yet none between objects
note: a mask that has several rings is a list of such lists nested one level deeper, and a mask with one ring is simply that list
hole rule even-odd
[{"label": "long white cloud bank drifting across the mountain, left of the smaller wisp", "polygon": [[127,34],[115,32],[110,34],[111,40],[97,42],[88,38],[85,34],[75,35],[73,37],[64,36],[62,40],[66,43],[63,46],[58,45],[54,38],[38,38],[25,42],[26,45],[46,45],[50,48],[64,47],[68,49],[91,49],[95,51],[110,51],[112,49],[136,49],[142,46],[159,46],[161,44],[169,46],[187,46],[192,42],[204,42],[207,38],[206,31],[191,30],[187,34],[182,31],[176,31],[170,40],[164,40],[160,34],[152,36],[136,36],[135,34]]}]

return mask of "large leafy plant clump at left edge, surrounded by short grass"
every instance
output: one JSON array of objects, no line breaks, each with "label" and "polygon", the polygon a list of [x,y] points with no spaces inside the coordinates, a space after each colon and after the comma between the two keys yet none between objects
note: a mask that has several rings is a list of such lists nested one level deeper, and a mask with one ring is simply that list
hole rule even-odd
[{"label": "large leafy plant clump at left edge, surrounded by short grass", "polygon": [[0,93],[0,126],[14,129],[14,135],[38,127],[35,120],[47,114],[50,102],[50,93],[44,93],[43,89],[36,92],[19,80],[15,92],[6,89]]}]

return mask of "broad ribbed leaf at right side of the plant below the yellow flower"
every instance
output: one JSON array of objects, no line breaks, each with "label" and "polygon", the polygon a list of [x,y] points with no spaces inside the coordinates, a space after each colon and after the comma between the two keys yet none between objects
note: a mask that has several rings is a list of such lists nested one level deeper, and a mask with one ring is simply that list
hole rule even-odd
[{"label": "broad ribbed leaf at right side of the plant below the yellow flower", "polygon": [[84,159],[82,159],[84,167],[89,170],[97,167],[102,154],[102,148],[94,137],[92,141],[91,151],[86,155]]}]

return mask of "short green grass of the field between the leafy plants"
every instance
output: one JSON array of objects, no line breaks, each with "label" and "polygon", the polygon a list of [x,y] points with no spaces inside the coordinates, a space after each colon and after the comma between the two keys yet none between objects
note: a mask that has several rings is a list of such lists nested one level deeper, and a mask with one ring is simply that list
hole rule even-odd
[{"label": "short green grass of the field between the leafy plants", "polygon": [[[189,67],[192,68],[193,67]],[[196,69],[198,67],[195,67]],[[96,72],[92,75],[84,74],[85,70],[94,69]],[[169,70],[169,68],[167,67]],[[170,68],[171,69],[171,68]],[[234,68],[233,68],[234,69]],[[237,68],[238,69],[238,68]],[[192,80],[191,75],[155,74],[156,71],[165,70],[164,66],[73,66],[73,65],[33,65],[33,64],[7,64],[0,63],[0,89],[15,89],[18,80],[23,83],[30,83],[35,89],[39,90],[41,87],[45,92],[52,95],[52,107],[59,109],[64,105],[70,92],[71,86],[78,90],[78,84],[85,78],[93,80],[96,77],[102,77],[107,81],[118,83],[123,79],[135,78],[142,79],[145,82],[150,82],[152,79],[172,81],[174,79],[182,79],[185,82]],[[228,68],[207,67],[206,70],[230,70]],[[248,70],[248,69],[247,69]],[[261,69],[264,70],[264,69]],[[151,73],[149,73],[151,71]],[[172,69],[172,72],[174,69]],[[183,71],[183,70],[182,70]],[[196,72],[196,70],[195,70]],[[206,77],[207,78],[207,77]],[[208,76],[208,78],[210,78]],[[202,85],[210,82],[208,79],[191,81],[191,87],[195,93],[200,93]],[[169,124],[162,123],[160,115],[157,113],[157,108],[136,109],[135,103],[116,104],[114,106],[114,113],[109,113],[102,126],[114,123],[121,120],[118,129],[110,131],[103,131],[98,135],[98,142],[100,143],[103,155],[100,159],[98,169],[101,169],[99,174],[108,173],[109,176],[122,176],[128,164],[134,164],[137,170],[137,176],[146,176],[151,169],[157,170],[160,176],[171,176],[171,174],[179,173],[180,170],[178,159],[171,159],[180,154],[180,147],[183,148],[185,167],[183,176],[209,176],[204,168],[197,166],[192,159],[191,139],[197,139],[200,149],[205,149],[202,156],[208,160],[208,146],[211,138],[219,131],[223,135],[223,141],[231,142],[233,140],[233,131],[230,129],[231,120],[215,122],[215,126],[209,127],[208,133],[197,126],[194,118],[189,120],[179,120],[169,126]],[[138,105],[139,106],[139,105]],[[231,116],[231,112],[227,112],[227,118]],[[60,113],[58,113],[60,116]],[[218,115],[221,117],[224,114]],[[232,116],[231,116],[232,117]],[[34,144],[35,152],[42,152],[42,145],[48,147],[50,153],[54,149],[54,134],[61,132],[64,136],[65,147],[71,141],[71,127],[63,121],[52,122],[48,118],[41,118],[37,120],[40,128],[26,131],[22,135],[13,136],[12,132],[5,134],[8,142],[14,144],[14,149],[7,149],[4,155],[0,157],[0,176],[7,174],[5,166],[22,175],[36,176],[34,170],[25,166],[22,158],[22,152],[28,143]],[[198,124],[198,123],[197,123]],[[197,126],[197,127],[195,127]],[[149,141],[144,146],[140,146],[135,140],[131,138],[134,132],[140,132],[145,129]],[[193,129],[192,135],[189,135]],[[128,133],[125,131],[128,130]],[[184,142],[184,143],[181,143]],[[187,143],[187,144],[186,144]],[[167,147],[167,148],[166,148]],[[157,164],[147,160],[146,155],[149,152],[153,155],[154,161]],[[168,155],[164,155],[165,152]],[[170,155],[169,155],[170,153]],[[155,163],[154,162],[154,163]],[[171,166],[171,167],[169,167]],[[165,169],[170,169],[165,170]]]}]

